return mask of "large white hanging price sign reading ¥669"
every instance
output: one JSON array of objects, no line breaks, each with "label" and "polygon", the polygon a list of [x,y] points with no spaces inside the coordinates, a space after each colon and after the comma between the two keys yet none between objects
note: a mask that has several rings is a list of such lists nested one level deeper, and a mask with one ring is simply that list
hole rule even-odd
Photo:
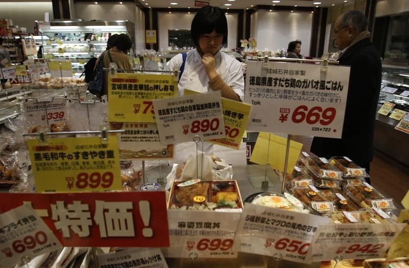
[{"label": "large white hanging price sign reading \u00a5669", "polygon": [[247,63],[245,102],[252,104],[247,130],[341,138],[349,66],[293,62]]}]

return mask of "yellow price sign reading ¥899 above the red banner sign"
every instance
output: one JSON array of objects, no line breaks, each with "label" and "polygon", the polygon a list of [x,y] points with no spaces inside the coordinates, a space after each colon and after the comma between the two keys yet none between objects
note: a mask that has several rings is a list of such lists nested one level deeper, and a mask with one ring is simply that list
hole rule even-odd
[{"label": "yellow price sign reading \u00a5899 above the red banner sign", "polygon": [[27,141],[37,192],[121,190],[117,136]]}]

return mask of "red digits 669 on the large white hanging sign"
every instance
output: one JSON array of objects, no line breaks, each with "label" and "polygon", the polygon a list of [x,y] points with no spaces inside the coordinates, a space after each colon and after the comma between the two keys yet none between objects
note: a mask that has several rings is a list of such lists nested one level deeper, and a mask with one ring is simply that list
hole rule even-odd
[{"label": "red digits 669 on the large white hanging sign", "polygon": [[336,115],[336,109],[333,107],[328,107],[323,110],[319,106],[314,106],[310,110],[305,105],[298,106],[294,109],[291,120],[294,123],[301,123],[305,120],[307,124],[313,125],[320,122],[321,125],[326,126],[334,121]]}]

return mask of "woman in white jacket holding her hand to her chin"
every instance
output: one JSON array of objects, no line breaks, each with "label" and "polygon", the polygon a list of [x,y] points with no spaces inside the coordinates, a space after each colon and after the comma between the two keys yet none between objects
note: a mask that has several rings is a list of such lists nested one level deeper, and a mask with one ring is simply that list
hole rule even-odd
[{"label": "woman in white jacket holding her hand to her chin", "polygon": [[[185,88],[200,92],[221,91],[221,96],[242,101],[244,78],[241,63],[220,52],[227,43],[228,26],[224,12],[218,7],[201,8],[192,20],[191,35],[196,48],[186,56],[184,70],[178,83],[178,94]],[[171,71],[182,71],[182,54],[168,62]]]}]

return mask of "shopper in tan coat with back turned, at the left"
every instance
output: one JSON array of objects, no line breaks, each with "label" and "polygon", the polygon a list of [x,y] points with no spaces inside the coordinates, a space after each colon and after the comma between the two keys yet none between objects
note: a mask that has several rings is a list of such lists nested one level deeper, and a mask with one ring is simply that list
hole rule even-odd
[{"label": "shopper in tan coat with back turned, at the left", "polygon": [[[106,50],[103,57],[104,68],[109,68],[109,63],[117,64],[118,69],[133,69],[131,58],[128,56],[129,50],[132,48],[132,40],[127,34],[120,34],[117,37],[112,35],[107,41],[108,46],[112,46]],[[95,66],[98,66],[101,56],[97,59]],[[104,89],[102,95],[108,95],[108,72],[104,73]]]}]

